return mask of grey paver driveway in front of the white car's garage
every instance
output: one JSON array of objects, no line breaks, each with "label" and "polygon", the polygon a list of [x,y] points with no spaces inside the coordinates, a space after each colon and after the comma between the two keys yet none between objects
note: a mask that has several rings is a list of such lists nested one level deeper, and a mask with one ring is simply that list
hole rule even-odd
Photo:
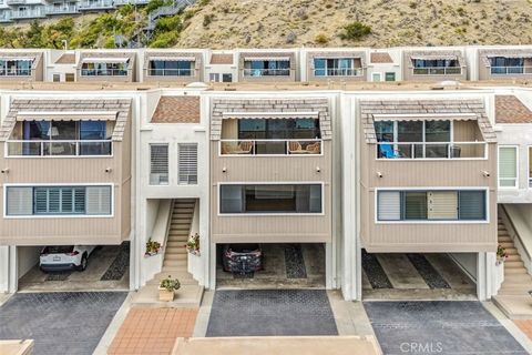
[{"label": "grey paver driveway in front of the white car's garage", "polygon": [[35,355],[92,354],[125,292],[19,293],[0,307],[0,339],[32,338]]}]

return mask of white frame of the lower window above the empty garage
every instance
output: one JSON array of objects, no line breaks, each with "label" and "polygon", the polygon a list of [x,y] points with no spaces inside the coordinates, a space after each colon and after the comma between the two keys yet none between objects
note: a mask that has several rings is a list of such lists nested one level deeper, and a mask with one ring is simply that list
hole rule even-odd
[{"label": "white frame of the lower window above the empty garage", "polygon": [[[484,191],[485,193],[485,220],[410,220],[410,221],[379,221],[379,191]],[[489,224],[490,216],[490,189],[485,186],[478,187],[438,187],[438,186],[419,186],[419,187],[379,187],[375,189],[374,196],[374,222],[375,224]]]}]

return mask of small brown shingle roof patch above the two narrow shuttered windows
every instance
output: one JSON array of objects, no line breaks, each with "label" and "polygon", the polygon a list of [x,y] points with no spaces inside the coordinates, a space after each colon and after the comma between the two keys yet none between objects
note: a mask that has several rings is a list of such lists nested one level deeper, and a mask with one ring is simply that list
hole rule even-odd
[{"label": "small brown shingle roof patch above the two narrow shuttered windows", "polygon": [[152,123],[200,123],[200,97],[161,97]]}]

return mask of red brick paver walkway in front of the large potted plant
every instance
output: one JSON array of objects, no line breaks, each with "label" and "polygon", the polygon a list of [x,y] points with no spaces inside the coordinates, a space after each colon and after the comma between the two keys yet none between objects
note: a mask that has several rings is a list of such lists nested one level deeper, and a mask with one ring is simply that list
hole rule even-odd
[{"label": "red brick paver walkway in front of the large potted plant", "polygon": [[170,354],[177,337],[191,337],[197,310],[134,307],[108,354]]}]

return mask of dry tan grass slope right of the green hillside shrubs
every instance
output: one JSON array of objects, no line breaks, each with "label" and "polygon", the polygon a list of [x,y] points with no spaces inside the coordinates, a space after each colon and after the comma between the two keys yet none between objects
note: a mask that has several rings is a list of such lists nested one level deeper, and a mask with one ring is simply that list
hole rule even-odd
[{"label": "dry tan grass slope right of the green hillside shrubs", "polygon": [[[532,43],[531,0],[211,0],[177,47],[393,47]],[[372,34],[339,39],[360,21]]]}]

